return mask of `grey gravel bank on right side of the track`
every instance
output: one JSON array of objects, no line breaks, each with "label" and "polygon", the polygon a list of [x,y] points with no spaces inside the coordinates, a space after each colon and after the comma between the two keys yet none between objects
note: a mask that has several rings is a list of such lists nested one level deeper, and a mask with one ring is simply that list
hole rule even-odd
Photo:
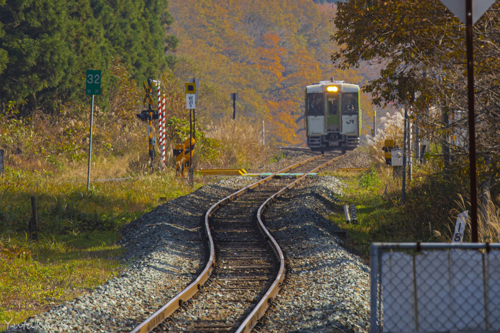
[{"label": "grey gravel bank on right side of the track", "polygon": [[369,268],[341,247],[339,228],[325,218],[342,187],[335,177],[308,180],[264,213],[292,273],[261,332],[368,332]]}]

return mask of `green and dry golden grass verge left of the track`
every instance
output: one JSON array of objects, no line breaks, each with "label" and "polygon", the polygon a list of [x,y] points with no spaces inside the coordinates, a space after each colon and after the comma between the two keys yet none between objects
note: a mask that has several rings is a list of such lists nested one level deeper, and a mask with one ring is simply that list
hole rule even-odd
[{"label": "green and dry golden grass verge left of the track", "polygon": [[[166,169],[149,174],[146,126],[135,117],[143,108],[137,102],[142,91],[119,61],[112,73],[117,80],[109,103],[95,107],[90,178],[130,180],[93,181],[87,191],[89,105],[68,103],[59,114],[35,111],[23,119],[14,108],[0,115],[0,148],[6,156],[0,178],[0,323],[23,321],[112,278],[119,270],[118,230],[165,198],[202,185],[200,178],[193,188],[175,177],[170,149]],[[188,137],[189,124],[183,84],[169,79],[162,81],[168,82],[166,146],[173,147]],[[239,120],[198,123],[195,167],[267,162],[273,150],[262,146],[260,130]],[[157,148],[156,156],[159,171]],[[38,242],[25,234],[30,196],[37,197]]]}]

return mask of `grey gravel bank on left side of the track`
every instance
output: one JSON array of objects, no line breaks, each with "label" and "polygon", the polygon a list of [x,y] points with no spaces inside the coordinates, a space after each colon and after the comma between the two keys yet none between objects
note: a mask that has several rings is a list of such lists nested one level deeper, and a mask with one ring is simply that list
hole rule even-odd
[{"label": "grey gravel bank on left side of the track", "polygon": [[130,332],[197,276],[205,260],[206,210],[251,182],[233,177],[204,186],[129,223],[122,232],[126,268],[119,277],[6,332]]}]

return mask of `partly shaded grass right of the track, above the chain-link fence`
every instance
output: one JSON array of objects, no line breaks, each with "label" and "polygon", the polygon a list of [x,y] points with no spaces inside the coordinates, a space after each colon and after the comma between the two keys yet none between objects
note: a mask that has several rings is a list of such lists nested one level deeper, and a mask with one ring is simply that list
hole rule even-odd
[{"label": "partly shaded grass right of the track, above the chain-link fence", "polygon": [[[406,186],[404,206],[400,201],[401,179],[392,179],[389,168],[323,173],[337,176],[347,185],[340,197],[341,206],[330,220],[347,231],[348,248],[367,259],[371,242],[450,241],[454,218],[462,211],[458,194],[466,189],[453,175],[430,173],[425,167],[415,169]],[[386,185],[389,189],[382,198]],[[356,205],[356,224],[345,222],[345,204]]]}]

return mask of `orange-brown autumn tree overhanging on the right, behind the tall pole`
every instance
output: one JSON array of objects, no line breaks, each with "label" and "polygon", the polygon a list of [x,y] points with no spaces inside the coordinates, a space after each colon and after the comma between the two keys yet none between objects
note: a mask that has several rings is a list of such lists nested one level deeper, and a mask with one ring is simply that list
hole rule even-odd
[{"label": "orange-brown autumn tree overhanging on the right, behind the tall pole", "polygon": [[[500,3],[474,24],[476,144],[480,180],[500,178]],[[445,165],[468,172],[465,26],[438,0],[349,0],[337,5],[339,68],[385,65],[364,91],[373,102],[413,104]],[[416,99],[413,101],[413,97]]]}]

